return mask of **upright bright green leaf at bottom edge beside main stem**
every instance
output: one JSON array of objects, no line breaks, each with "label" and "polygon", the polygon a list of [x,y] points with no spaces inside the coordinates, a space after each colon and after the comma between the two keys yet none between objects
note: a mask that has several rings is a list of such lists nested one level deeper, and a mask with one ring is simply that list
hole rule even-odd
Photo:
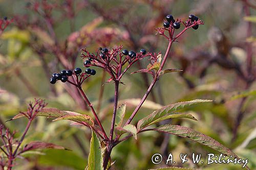
[{"label": "upright bright green leaf at bottom edge beside main stem", "polygon": [[90,141],[90,153],[88,157],[88,170],[103,170],[103,158],[101,154],[100,141],[96,133],[92,130]]}]

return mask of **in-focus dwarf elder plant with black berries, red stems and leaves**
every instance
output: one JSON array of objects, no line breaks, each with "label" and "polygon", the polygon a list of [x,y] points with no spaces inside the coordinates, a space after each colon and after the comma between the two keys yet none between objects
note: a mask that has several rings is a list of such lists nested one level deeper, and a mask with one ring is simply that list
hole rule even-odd
[{"label": "in-focus dwarf elder plant with black berries, red stems and leaves", "polygon": [[[81,68],[74,68],[74,70],[61,70],[60,72],[54,73],[52,75],[50,78],[50,83],[55,84],[56,81],[61,81],[63,83],[69,83],[75,86],[80,91],[84,101],[90,107],[94,117],[73,111],[62,111],[56,108],[43,107],[32,115],[31,110],[19,113],[13,117],[12,120],[20,117],[27,117],[29,118],[29,124],[31,124],[31,121],[35,116],[47,116],[54,117],[54,120],[68,119],[75,122],[74,124],[76,125],[82,125],[91,128],[92,137],[90,142],[90,154],[88,157],[88,166],[86,169],[110,169],[111,165],[113,164],[113,160],[111,159],[111,152],[113,148],[117,144],[121,144],[122,141],[130,137],[137,139],[138,134],[146,131],[158,131],[177,135],[204,144],[211,149],[223,153],[224,155],[232,155],[234,158],[238,158],[236,154],[234,154],[228,148],[224,147],[224,145],[218,141],[193,129],[169,124],[150,128],[151,125],[157,124],[170,118],[189,118],[197,120],[194,116],[187,113],[180,113],[179,111],[190,105],[203,102],[211,102],[210,100],[193,100],[170,104],[154,111],[151,114],[148,114],[146,117],[140,119],[137,124],[133,122],[134,117],[136,114],[138,114],[142,104],[145,102],[147,96],[151,93],[154,85],[161,78],[161,76],[169,72],[182,71],[179,69],[164,69],[166,60],[170,58],[169,52],[173,43],[177,42],[178,38],[188,29],[193,28],[194,30],[197,30],[199,25],[203,24],[204,22],[195,15],[189,15],[186,21],[182,21],[181,19],[175,20],[172,15],[167,15],[166,20],[164,20],[163,23],[163,28],[156,29],[157,34],[163,36],[168,41],[168,46],[163,57],[160,52],[146,52],[144,49],[141,49],[140,52],[134,52],[131,50],[123,49],[122,45],[118,45],[113,48],[99,47],[95,53],[91,53],[87,50],[87,48],[83,48],[81,50],[81,58],[85,60],[83,64],[84,67],[86,67],[85,70],[83,71]],[[182,30],[178,32],[179,29]],[[125,120],[124,116],[126,104],[119,103],[118,106],[119,86],[124,85],[125,82],[122,82],[122,77],[124,74],[129,72],[129,68],[131,68],[139,60],[143,59],[148,59],[148,61],[150,61],[148,66],[144,69],[132,72],[132,74],[137,72],[145,72],[151,74],[153,80],[133,113],[127,120]],[[106,130],[102,126],[102,122],[98,117],[98,113],[95,111],[94,106],[88,99],[86,92],[82,89],[82,84],[84,81],[97,75],[96,70],[93,69],[94,67],[100,67],[105,72],[107,72],[110,78],[108,81],[106,81],[106,83],[113,82],[115,87],[110,134],[106,133]],[[22,140],[24,137],[25,135],[23,135]],[[49,144],[45,145],[49,146]],[[36,146],[38,146],[38,143]],[[54,147],[48,148],[58,148],[56,145],[52,146]],[[23,152],[23,150],[19,152]],[[14,153],[11,154],[11,156],[15,156],[16,153],[19,152],[17,148]],[[6,154],[8,155],[7,152]],[[11,169],[11,167],[12,166],[10,165],[9,169]]]}]

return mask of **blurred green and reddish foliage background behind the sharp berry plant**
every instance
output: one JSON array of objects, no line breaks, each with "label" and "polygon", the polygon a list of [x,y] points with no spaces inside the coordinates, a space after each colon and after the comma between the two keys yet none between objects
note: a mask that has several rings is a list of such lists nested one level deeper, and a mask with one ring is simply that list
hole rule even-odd
[{"label": "blurred green and reddish foliage background behind the sharp berry plant", "polygon": [[[36,12],[35,4],[39,4]],[[51,4],[46,8],[44,3]],[[70,8],[70,4],[72,4]],[[0,117],[2,122],[27,108],[34,98],[45,99],[47,107],[72,110],[89,114],[79,103],[74,88],[61,82],[49,83],[52,73],[71,67],[82,67],[80,49],[87,47],[96,52],[98,47],[112,48],[123,44],[124,48],[139,51],[165,53],[167,41],[155,35],[155,28],[162,27],[167,14],[185,20],[189,14],[197,15],[205,22],[198,30],[190,29],[172,46],[165,68],[184,71],[161,77],[154,87],[154,95],[148,100],[161,105],[193,99],[210,99],[212,103],[189,109],[198,121],[175,119],[172,124],[194,128],[232,149],[238,156],[249,159],[249,167],[256,169],[256,110],[255,110],[255,1],[198,0],[198,1],[4,1],[0,0],[0,17],[14,21],[0,37]],[[52,8],[52,9],[51,9]],[[46,13],[45,13],[46,12]],[[47,14],[47,15],[44,15]],[[244,17],[248,16],[250,22]],[[49,20],[47,21],[46,18]],[[52,26],[49,29],[48,23]],[[180,29],[181,30],[181,29]],[[51,32],[53,31],[53,32]],[[178,31],[176,31],[178,32]],[[176,33],[177,34],[177,33]],[[57,45],[56,45],[57,44]],[[248,55],[252,57],[252,69],[248,71]],[[64,57],[71,65],[63,64]],[[145,68],[148,60],[135,65],[129,73]],[[83,68],[84,69],[84,68]],[[93,105],[98,108],[103,126],[109,133],[114,86],[102,70],[88,79],[83,89]],[[249,77],[249,78],[248,78]],[[252,80],[251,80],[252,79]],[[142,98],[150,76],[126,74],[120,86],[120,101]],[[100,93],[103,90],[100,102]],[[100,107],[99,107],[100,103]],[[135,106],[126,111],[129,117]],[[154,105],[143,107],[134,123],[155,110]],[[240,112],[243,119],[234,130]],[[4,123],[18,134],[23,132],[27,120],[17,119]],[[89,154],[91,130],[70,126],[70,122],[51,122],[39,117],[33,123],[24,144],[30,140],[42,140],[60,144],[72,151],[43,150],[24,155],[14,169],[84,169]],[[112,153],[113,169],[148,169],[166,166],[154,165],[155,153],[201,153],[206,158],[214,151],[203,145],[169,136],[147,132],[139,139],[129,139],[117,145]],[[241,169],[233,164],[191,164],[178,162],[175,166],[199,169]]]}]

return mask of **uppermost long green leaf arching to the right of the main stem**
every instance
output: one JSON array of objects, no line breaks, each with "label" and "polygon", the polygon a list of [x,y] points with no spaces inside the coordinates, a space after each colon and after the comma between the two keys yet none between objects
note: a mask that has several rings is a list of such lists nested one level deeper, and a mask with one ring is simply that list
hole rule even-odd
[{"label": "uppermost long green leaf arching to the right of the main stem", "polygon": [[156,110],[153,113],[151,113],[150,115],[139,120],[138,125],[137,125],[138,131],[142,128],[147,127],[148,125],[151,125],[152,122],[159,119],[160,117],[163,117],[167,114],[173,114],[173,112],[177,112],[185,107],[188,107],[190,105],[195,105],[198,103],[203,103],[203,102],[211,102],[211,100],[197,99],[197,100],[193,100],[193,101],[179,102],[179,103],[164,106],[163,108]]}]

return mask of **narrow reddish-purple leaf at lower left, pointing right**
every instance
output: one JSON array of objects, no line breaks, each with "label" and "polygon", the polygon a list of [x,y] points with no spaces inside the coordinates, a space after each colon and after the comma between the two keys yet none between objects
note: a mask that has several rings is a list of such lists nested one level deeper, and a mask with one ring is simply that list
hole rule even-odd
[{"label": "narrow reddish-purple leaf at lower left, pointing right", "polygon": [[53,143],[47,143],[42,141],[32,141],[25,145],[22,153],[36,150],[36,149],[57,149],[57,150],[67,150],[64,147],[61,147],[60,145],[53,144]]}]

